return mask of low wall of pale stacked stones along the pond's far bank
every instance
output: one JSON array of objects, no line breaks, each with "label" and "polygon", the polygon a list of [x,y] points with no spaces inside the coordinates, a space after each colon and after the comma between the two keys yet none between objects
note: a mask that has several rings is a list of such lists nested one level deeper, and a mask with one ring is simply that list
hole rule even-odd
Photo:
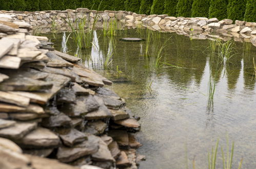
[{"label": "low wall of pale stacked stones along the pond's far bank", "polygon": [[[97,25],[102,26],[102,22],[111,22],[113,20],[125,23],[126,26],[135,27],[144,25],[156,31],[177,32],[179,34],[193,36],[194,38],[211,38],[206,35],[221,35],[227,39],[233,37],[236,41],[251,42],[256,46],[256,23],[249,23],[240,20],[217,18],[185,18],[164,15],[143,15],[127,11],[90,11],[87,8],[77,8],[76,10],[67,9],[65,11],[37,11],[37,12],[20,12],[20,11],[0,11],[0,13],[9,14],[14,20],[25,21],[33,27],[50,28],[52,23],[56,24],[61,31],[66,31],[67,23],[64,19],[74,20],[86,18],[93,21],[97,19]],[[95,18],[96,17],[96,18]],[[8,19],[1,19],[8,20]],[[200,35],[198,35],[200,34]],[[218,36],[217,36],[218,37]],[[221,39],[222,38],[220,37]]]}]

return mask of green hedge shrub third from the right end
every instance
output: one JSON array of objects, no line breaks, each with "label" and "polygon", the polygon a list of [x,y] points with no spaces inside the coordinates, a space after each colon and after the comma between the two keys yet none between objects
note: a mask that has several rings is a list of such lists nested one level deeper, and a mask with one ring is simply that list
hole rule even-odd
[{"label": "green hedge shrub third from the right end", "polygon": [[227,18],[227,5],[227,0],[211,0],[209,18],[216,17],[219,20]]}]

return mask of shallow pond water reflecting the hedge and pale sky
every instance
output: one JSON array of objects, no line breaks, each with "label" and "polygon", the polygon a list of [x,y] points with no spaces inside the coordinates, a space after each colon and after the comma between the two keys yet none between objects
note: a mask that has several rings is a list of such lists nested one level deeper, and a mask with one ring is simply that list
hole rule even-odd
[{"label": "shallow pond water reflecting the hedge and pale sky", "polygon": [[[151,41],[119,40],[146,39],[149,32],[125,29],[108,37],[102,30],[93,31],[92,48],[83,50],[78,50],[71,39],[66,43],[67,32],[44,35],[56,50],[83,58],[85,66],[112,80],[110,88],[141,117],[142,130],[136,138],[143,144],[139,153],[147,160],[140,168],[207,168],[208,152],[218,139],[216,168],[222,168],[221,147],[226,152],[227,137],[229,149],[234,141],[233,168],[238,168],[241,159],[242,168],[255,168],[256,90],[252,69],[256,47],[235,42],[235,55],[220,61],[210,50],[209,39],[151,32]],[[208,91],[214,84],[210,98]]]}]

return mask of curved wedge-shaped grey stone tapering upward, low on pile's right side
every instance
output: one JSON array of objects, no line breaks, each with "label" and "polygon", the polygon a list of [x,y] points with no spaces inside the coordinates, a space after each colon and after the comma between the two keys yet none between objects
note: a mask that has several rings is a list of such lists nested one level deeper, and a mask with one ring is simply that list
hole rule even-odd
[{"label": "curved wedge-shaped grey stone tapering upward, low on pile's right side", "polygon": [[96,153],[92,154],[92,159],[96,161],[111,161],[114,162],[114,158],[112,157],[108,145],[100,138],[94,135],[91,135],[95,140],[99,141],[99,150]]}]

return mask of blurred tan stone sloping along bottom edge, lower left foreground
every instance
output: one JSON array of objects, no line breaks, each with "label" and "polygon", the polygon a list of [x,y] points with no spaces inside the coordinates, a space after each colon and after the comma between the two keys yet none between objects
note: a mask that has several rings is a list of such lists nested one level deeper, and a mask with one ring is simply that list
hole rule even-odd
[{"label": "blurred tan stone sloping along bottom edge, lower left foreground", "polygon": [[36,169],[77,169],[77,167],[58,162],[57,160],[42,158],[38,156],[26,155],[31,161],[31,167]]}]

